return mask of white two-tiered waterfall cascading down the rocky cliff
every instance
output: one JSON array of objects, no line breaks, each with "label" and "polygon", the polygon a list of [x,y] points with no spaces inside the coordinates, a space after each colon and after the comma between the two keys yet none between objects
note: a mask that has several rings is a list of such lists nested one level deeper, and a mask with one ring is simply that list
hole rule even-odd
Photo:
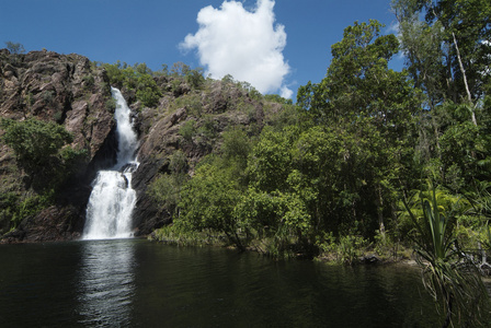
[{"label": "white two-tiered waterfall cascading down the rocky cliff", "polygon": [[111,87],[111,92],[116,101],[117,162],[112,169],[100,171],[92,183],[83,239],[132,236],[132,212],[136,203],[132,173],[138,167],[135,157],[138,141],[125,98],[117,89]]}]

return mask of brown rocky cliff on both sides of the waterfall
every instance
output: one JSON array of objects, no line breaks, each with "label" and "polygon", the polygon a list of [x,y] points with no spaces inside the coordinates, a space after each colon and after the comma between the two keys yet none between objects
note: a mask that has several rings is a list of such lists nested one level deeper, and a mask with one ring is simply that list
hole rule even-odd
[{"label": "brown rocky cliff on both sides of the waterfall", "polygon": [[[56,121],[72,133],[71,147],[88,153],[87,161],[80,163],[77,173],[57,194],[55,203],[25,215],[11,232],[12,213],[0,200],[0,239],[77,238],[83,231],[90,184],[98,169],[115,161],[114,103],[107,73],[79,55],[49,51],[11,55],[3,49],[0,50],[0,77],[2,118]],[[135,90],[116,85],[130,104],[140,141],[140,166],[133,177],[138,196],[134,212],[136,235],[149,234],[171,220],[165,209],[156,207],[147,189],[159,174],[169,172],[170,159],[178,150],[185,154],[192,175],[203,156],[219,152],[225,130],[242,126],[254,134],[267,120],[263,104],[238,84],[207,81],[201,87],[193,87],[183,77],[158,75],[153,80],[161,97],[152,108],[137,102]],[[274,105],[271,108],[279,109]],[[13,151],[4,143],[0,143],[0,194],[16,195],[18,202],[36,192]]]}]

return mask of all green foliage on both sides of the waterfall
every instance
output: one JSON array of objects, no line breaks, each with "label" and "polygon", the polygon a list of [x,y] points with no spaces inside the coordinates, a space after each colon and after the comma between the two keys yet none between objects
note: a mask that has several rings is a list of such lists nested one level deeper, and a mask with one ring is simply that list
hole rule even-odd
[{"label": "all green foliage on both sides of the waterfall", "polygon": [[[372,20],[347,26],[326,77],[300,86],[295,105],[182,62],[156,72],[103,65],[130,102],[185,110],[185,121],[173,122],[179,150],[148,188],[173,220],[156,235],[345,263],[364,250],[399,257],[399,246],[414,246],[444,326],[473,325],[486,301],[476,268],[491,268],[491,3],[393,0],[392,8],[399,35]],[[399,51],[400,72],[389,68]],[[249,124],[224,131],[218,125],[230,120],[215,118],[227,112]],[[22,167],[52,186],[83,155],[56,124],[1,126]],[[185,152],[196,149],[210,154],[187,163]],[[10,212],[0,215],[24,218],[53,192],[2,195]]]}]

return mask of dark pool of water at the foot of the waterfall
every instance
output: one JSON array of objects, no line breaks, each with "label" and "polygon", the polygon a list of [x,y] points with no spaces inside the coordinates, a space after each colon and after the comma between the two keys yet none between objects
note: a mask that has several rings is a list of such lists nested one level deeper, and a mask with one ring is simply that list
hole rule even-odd
[{"label": "dark pool of water at the foot of the waterfall", "polygon": [[435,327],[419,271],[142,239],[0,245],[0,327]]}]

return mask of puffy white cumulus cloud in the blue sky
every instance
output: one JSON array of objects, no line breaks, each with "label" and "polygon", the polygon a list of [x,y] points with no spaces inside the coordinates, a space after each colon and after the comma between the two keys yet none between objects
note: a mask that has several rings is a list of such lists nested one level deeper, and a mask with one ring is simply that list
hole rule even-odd
[{"label": "puffy white cumulus cloud in the blue sky", "polygon": [[201,65],[215,79],[231,74],[235,80],[251,83],[261,93],[281,91],[290,68],[283,57],[285,26],[275,24],[273,0],[258,0],[248,11],[238,1],[224,1],[219,9],[203,8],[197,14],[198,31],[180,44],[182,49],[196,49]]}]

